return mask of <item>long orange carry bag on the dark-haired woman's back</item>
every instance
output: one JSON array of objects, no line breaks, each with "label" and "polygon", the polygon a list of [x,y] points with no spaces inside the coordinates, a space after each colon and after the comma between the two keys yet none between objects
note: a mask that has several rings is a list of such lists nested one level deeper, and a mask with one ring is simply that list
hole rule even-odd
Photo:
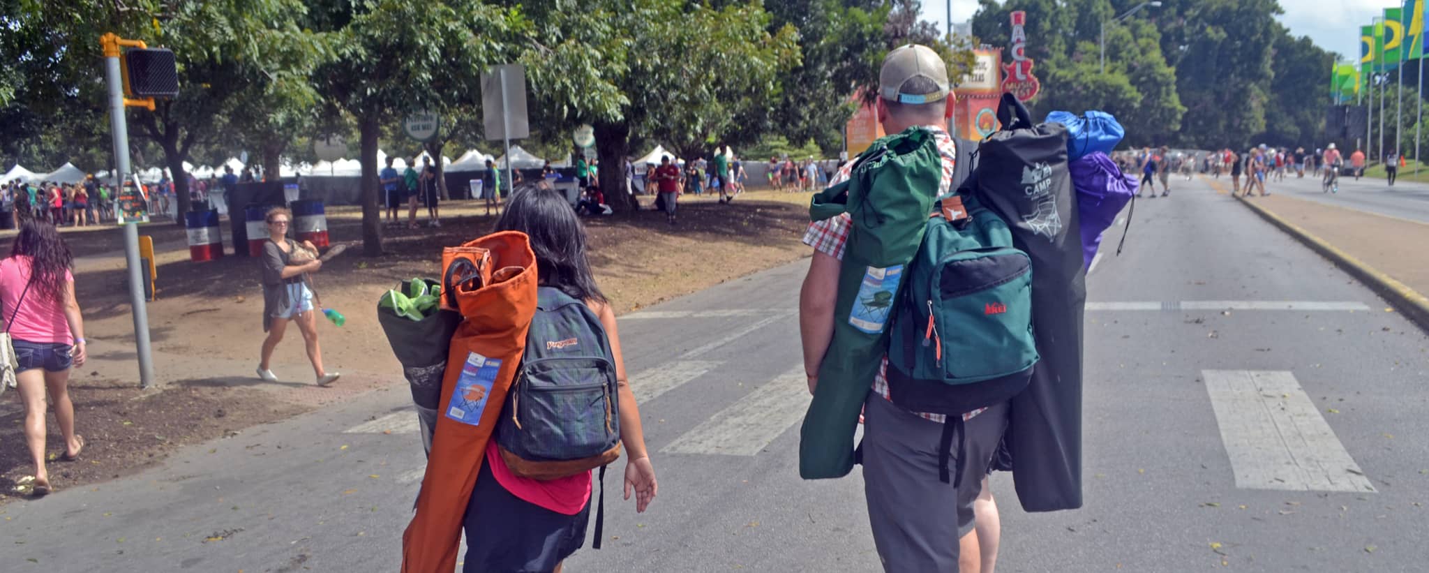
[{"label": "long orange carry bag on the dark-haired woman's back", "polygon": [[407,573],[456,570],[467,500],[536,313],[536,254],[524,233],[444,249],[442,276],[442,306],[463,320],[452,336],[416,516],[402,536]]}]

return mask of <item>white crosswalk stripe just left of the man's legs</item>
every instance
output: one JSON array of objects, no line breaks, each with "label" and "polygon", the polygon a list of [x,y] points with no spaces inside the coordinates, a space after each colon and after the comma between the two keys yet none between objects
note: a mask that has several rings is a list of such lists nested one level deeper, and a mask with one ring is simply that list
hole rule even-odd
[{"label": "white crosswalk stripe just left of the man's legs", "polygon": [[803,366],[797,366],[745,394],[660,452],[755,456],[803,419],[809,400]]}]

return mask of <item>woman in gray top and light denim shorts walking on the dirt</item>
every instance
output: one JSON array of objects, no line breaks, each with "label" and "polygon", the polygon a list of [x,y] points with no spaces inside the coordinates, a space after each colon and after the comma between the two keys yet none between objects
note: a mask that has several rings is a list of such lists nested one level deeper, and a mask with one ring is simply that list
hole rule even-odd
[{"label": "woman in gray top and light denim shorts walking on the dirt", "polygon": [[[317,259],[317,247],[312,241],[294,243],[287,239],[293,226],[293,211],[283,207],[269,209],[263,217],[269,227],[269,240],[263,243],[263,350],[259,359],[259,377],[277,382],[277,374],[269,369],[273,350],[283,342],[289,320],[297,323],[307,349],[307,360],[313,363],[317,386],[337,380],[339,373],[323,370],[323,352],[317,346],[317,292],[307,273],[323,267]],[[303,251],[306,253],[303,253]]]}]

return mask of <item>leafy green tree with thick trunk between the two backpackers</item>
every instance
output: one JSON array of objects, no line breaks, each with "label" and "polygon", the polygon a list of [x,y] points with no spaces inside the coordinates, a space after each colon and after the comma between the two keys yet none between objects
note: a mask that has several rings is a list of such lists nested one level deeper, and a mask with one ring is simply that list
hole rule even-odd
[{"label": "leafy green tree with thick trunk between the two backpackers", "polygon": [[[596,129],[600,186],[624,189],[632,133],[687,154],[723,143],[735,117],[779,96],[797,64],[795,30],[769,33],[757,0],[723,7],[673,0],[522,3],[537,23],[522,54],[533,107],[549,126]],[[710,141],[710,140],[714,141]],[[606,193],[630,211],[634,197]]]}]

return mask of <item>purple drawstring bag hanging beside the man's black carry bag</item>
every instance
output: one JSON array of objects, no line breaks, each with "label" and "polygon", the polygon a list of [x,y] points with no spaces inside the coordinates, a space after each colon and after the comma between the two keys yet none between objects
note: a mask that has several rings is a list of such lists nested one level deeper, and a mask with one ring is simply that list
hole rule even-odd
[{"label": "purple drawstring bag hanging beside the man's black carry bag", "polygon": [[1077,214],[1082,220],[1082,264],[1090,267],[1102,231],[1112,226],[1116,214],[1136,194],[1136,176],[1122,173],[1106,153],[1095,151],[1067,164],[1072,189],[1076,190]]}]

